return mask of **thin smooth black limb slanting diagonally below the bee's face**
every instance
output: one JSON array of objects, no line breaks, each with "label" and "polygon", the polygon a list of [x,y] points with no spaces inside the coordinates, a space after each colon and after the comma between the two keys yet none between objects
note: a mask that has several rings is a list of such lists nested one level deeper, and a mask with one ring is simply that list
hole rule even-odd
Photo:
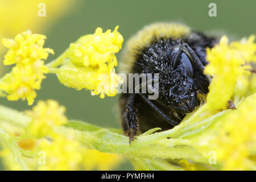
[{"label": "thin smooth black limb slanting diagonally below the bee's face", "polygon": [[139,93],[139,96],[141,96],[142,100],[144,102],[146,102],[146,104],[148,106],[150,106],[156,113],[158,113],[160,115],[160,117],[162,117],[165,121],[170,123],[170,125],[172,125],[172,126],[179,125],[178,122],[176,122],[176,121],[174,121],[174,119],[168,117],[167,114],[165,114],[161,109],[159,109],[159,107],[156,106],[151,100],[148,100],[148,98],[146,96],[144,96],[142,93]]}]

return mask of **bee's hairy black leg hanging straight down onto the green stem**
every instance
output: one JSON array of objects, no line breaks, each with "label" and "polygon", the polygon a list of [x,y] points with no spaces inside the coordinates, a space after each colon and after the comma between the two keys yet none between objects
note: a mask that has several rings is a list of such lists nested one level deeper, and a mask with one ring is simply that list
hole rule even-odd
[{"label": "bee's hairy black leg hanging straight down onto the green stem", "polygon": [[126,105],[122,111],[122,127],[125,135],[129,137],[129,142],[134,140],[134,136],[139,130],[139,121],[137,117],[137,94],[129,94]]}]

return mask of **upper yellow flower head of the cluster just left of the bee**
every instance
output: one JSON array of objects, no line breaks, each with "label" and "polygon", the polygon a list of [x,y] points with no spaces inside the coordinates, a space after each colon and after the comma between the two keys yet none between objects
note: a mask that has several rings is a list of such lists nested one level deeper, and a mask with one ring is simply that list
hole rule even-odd
[{"label": "upper yellow flower head of the cluster just left of the bee", "polygon": [[84,67],[101,67],[102,64],[110,64],[110,68],[117,65],[114,53],[122,47],[123,37],[115,30],[102,32],[97,28],[93,35],[82,36],[76,43],[71,43],[68,57],[72,63]]}]

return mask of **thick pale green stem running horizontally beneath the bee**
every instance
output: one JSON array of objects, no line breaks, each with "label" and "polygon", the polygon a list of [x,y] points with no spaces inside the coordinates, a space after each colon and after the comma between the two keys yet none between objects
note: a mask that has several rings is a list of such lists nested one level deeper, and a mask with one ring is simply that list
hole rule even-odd
[{"label": "thick pale green stem running horizontally beneath the bee", "polygon": [[[70,128],[56,127],[55,132],[59,134],[68,133]],[[129,144],[129,138],[112,133],[106,129],[96,132],[73,131],[76,140],[86,148],[96,149],[101,152],[115,153],[130,156],[131,158],[162,158],[162,159],[192,159],[195,162],[207,162],[194,148],[190,146],[177,146],[176,140],[169,140],[170,146],[164,147],[155,141],[136,140]]]}]

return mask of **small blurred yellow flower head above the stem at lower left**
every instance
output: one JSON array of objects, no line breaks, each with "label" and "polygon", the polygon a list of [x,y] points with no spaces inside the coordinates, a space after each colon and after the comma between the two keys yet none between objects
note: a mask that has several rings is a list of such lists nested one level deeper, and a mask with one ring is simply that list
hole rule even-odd
[{"label": "small blurred yellow flower head above the stem at lower left", "polygon": [[44,137],[51,133],[53,126],[61,126],[68,122],[64,115],[65,107],[53,100],[39,101],[31,111],[26,113],[32,117],[26,132],[35,138]]}]

